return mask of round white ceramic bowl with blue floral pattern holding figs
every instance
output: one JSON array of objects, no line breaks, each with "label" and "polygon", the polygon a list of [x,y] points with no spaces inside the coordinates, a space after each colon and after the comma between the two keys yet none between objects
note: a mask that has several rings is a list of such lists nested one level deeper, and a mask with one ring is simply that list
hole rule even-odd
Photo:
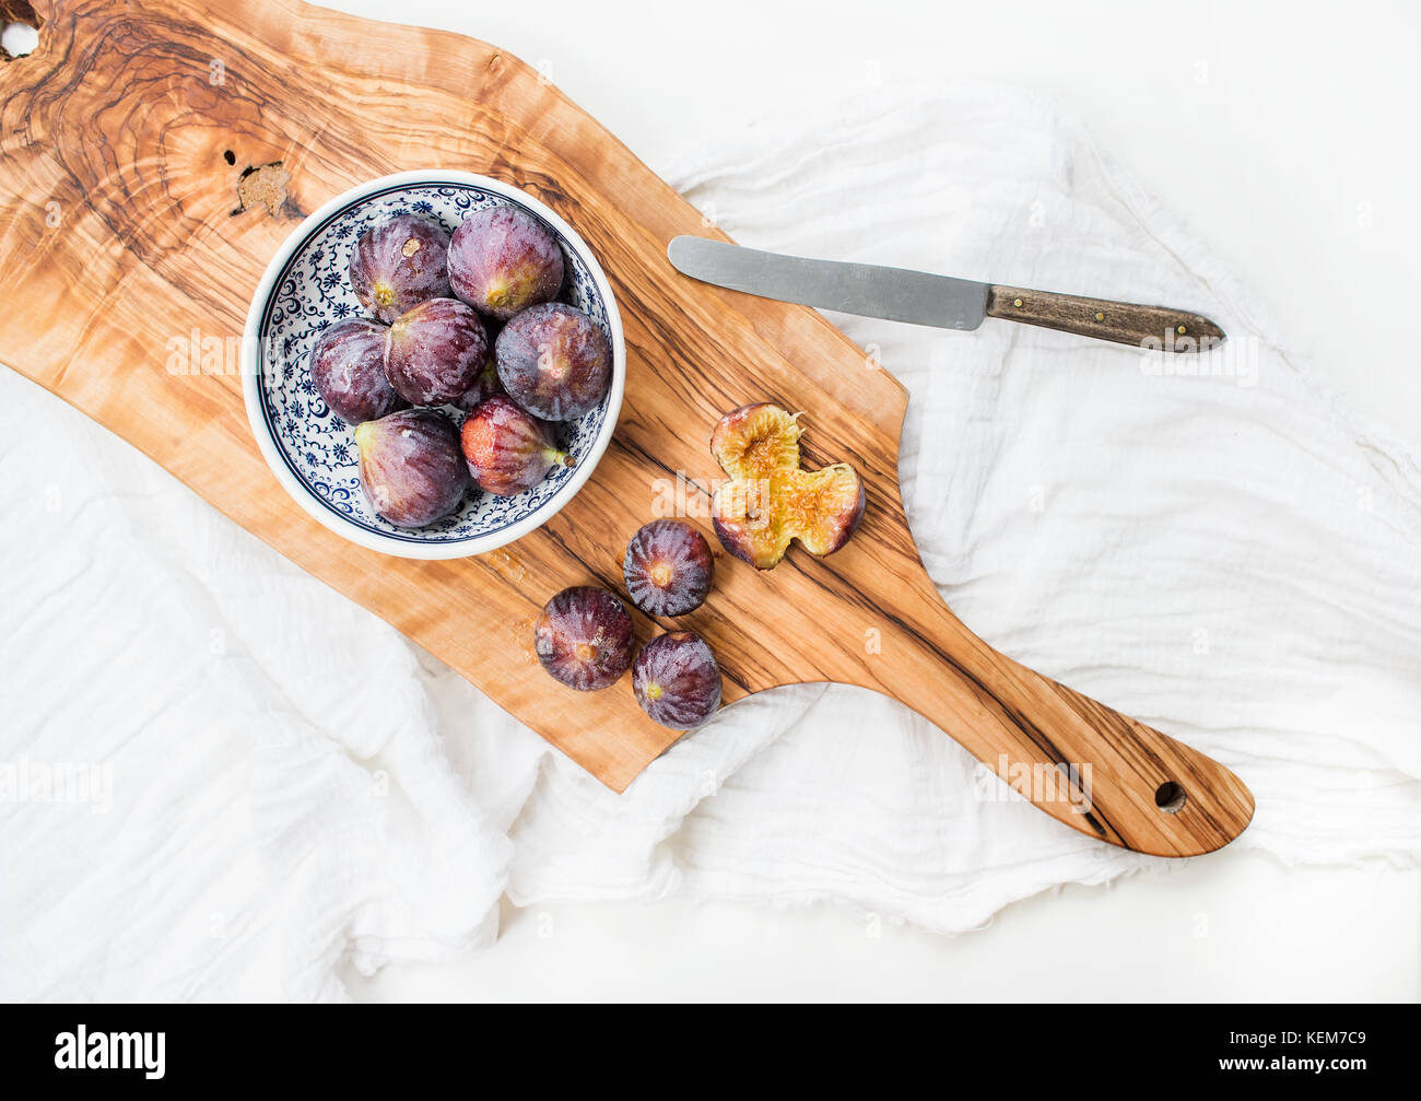
[{"label": "round white ceramic bowl with blue floral pattern holding figs", "polygon": [[[453,233],[473,210],[512,205],[543,222],[563,247],[563,301],[585,310],[612,348],[600,408],[560,425],[577,460],[516,497],[470,489],[458,513],[423,528],[381,520],[360,487],[360,453],[347,425],[321,401],[307,354],[327,325],[362,310],[347,269],[355,239],[395,215],[433,217]],[[587,244],[537,199],[472,172],[401,172],[338,195],[303,222],[267,266],[242,341],[247,418],[281,487],[333,531],[405,558],[460,558],[512,543],[567,504],[591,476],[621,411],[627,349],[607,276]]]}]

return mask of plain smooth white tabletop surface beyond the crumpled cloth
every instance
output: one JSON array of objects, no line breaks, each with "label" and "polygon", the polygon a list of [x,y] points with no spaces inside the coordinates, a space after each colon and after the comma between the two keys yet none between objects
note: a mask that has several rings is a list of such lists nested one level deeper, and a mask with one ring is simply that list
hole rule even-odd
[{"label": "plain smooth white tabletop surface beyond the crumpled cloth", "polygon": [[[845,88],[871,95],[877,81],[1049,92],[1246,278],[1323,378],[1421,442],[1415,3],[405,0],[398,11],[541,68],[652,168],[698,135]],[[503,919],[490,950],[351,975],[351,989],[371,1000],[1421,996],[1421,874],[1289,869],[1229,851],[1036,898],[958,938],[847,908],[675,901],[506,906]]]}]

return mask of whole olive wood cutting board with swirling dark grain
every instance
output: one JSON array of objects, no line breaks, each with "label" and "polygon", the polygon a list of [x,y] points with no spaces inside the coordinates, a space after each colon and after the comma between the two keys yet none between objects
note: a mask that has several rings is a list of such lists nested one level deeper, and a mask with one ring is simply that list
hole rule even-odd
[{"label": "whole olive wood cutting board with swirling dark grain", "polygon": [[[1226,769],[996,653],[952,615],[899,499],[902,386],[811,310],[678,276],[666,242],[703,233],[701,215],[529,67],[459,36],[293,0],[38,7],[38,51],[0,71],[0,263],[13,293],[0,357],[604,783],[625,788],[676,734],[624,685],[573,693],[550,682],[533,619],[564,585],[620,588],[627,537],[678,484],[709,530],[710,426],[774,401],[806,411],[807,465],[858,466],[868,507],[831,558],[794,550],[767,574],[722,558],[712,598],[681,622],[715,648],[728,700],[806,680],[860,685],[1009,779],[1013,767],[1087,764],[1088,810],[1079,791],[1037,804],[1145,852],[1205,852],[1246,825],[1252,797]],[[284,196],[237,212],[243,172],[277,163]],[[422,563],[345,543],[286,497],[247,429],[234,357],[225,371],[172,372],[165,349],[192,330],[237,338],[267,259],[304,212],[372,176],[441,166],[523,188],[577,227],[617,294],[628,374],[612,446],[557,517],[503,551]],[[637,617],[644,639],[657,627]],[[1177,813],[1155,806],[1169,781],[1187,791]]]}]

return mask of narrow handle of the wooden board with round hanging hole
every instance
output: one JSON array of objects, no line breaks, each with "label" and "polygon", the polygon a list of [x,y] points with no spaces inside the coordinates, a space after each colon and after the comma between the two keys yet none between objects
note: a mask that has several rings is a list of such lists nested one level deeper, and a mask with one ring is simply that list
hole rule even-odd
[{"label": "narrow handle of the wooden board with round hanging hole", "polygon": [[1253,796],[1229,769],[996,652],[935,590],[905,600],[914,614],[899,622],[915,645],[878,690],[942,727],[1040,810],[1155,857],[1212,852],[1249,824]]}]

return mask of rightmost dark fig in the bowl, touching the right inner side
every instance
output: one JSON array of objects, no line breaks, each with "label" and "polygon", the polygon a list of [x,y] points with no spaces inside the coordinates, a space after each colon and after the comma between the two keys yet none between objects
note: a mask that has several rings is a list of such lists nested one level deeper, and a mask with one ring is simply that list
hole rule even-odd
[{"label": "rightmost dark fig in the bowl, touching the right inner side", "polygon": [[570,421],[607,394],[612,351],[591,317],[544,303],[509,321],[495,344],[499,379],[519,405],[544,421]]}]

